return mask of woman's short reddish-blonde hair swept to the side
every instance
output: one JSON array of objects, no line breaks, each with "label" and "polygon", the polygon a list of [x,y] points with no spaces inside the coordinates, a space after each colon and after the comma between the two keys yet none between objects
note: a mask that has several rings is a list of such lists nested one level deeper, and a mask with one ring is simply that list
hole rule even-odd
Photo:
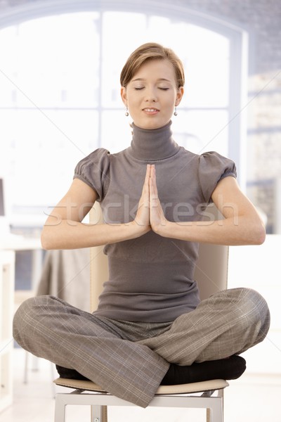
[{"label": "woman's short reddish-blonde hair swept to the side", "polygon": [[126,87],[131,81],[136,72],[138,72],[141,65],[148,60],[169,60],[174,67],[176,83],[179,87],[183,87],[185,83],[185,76],[183,70],[183,63],[176,56],[173,50],[168,49],[161,44],[148,42],[138,47],[126,61],[124,68],[120,74],[120,84]]}]

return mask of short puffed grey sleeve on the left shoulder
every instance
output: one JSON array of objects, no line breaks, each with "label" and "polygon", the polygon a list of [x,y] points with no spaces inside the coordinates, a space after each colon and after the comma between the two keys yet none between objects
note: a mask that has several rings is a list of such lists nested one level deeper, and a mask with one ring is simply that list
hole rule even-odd
[{"label": "short puffed grey sleeve on the left shoulder", "polygon": [[98,193],[98,201],[103,200],[110,185],[110,152],[98,148],[80,160],[73,179],[84,181]]}]

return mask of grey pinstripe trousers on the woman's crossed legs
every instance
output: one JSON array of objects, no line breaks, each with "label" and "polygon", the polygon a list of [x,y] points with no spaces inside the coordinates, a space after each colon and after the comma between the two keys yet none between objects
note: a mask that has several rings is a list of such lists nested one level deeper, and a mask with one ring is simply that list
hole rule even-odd
[{"label": "grey pinstripe trousers on the woman's crossed legs", "polygon": [[261,342],[268,332],[266,301],[255,290],[223,290],[173,322],[114,321],[52,296],[30,298],[13,320],[25,350],[76,369],[108,392],[146,407],[169,363],[223,359]]}]

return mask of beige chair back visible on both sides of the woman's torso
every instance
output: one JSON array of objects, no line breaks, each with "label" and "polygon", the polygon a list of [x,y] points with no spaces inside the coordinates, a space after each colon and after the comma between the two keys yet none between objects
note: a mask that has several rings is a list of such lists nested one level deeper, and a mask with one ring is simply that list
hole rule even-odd
[{"label": "beige chair back visible on both sides of the woman's torso", "polygon": [[[208,207],[208,212],[214,218],[222,216],[214,205]],[[90,211],[90,223],[103,222],[102,211],[99,203],[95,203]],[[211,223],[210,223],[211,224]],[[91,265],[91,312],[98,307],[98,297],[103,290],[103,283],[108,279],[107,256],[103,253],[103,245],[90,248]],[[201,300],[219,290],[227,288],[228,279],[228,246],[200,243],[199,258],[195,267],[195,280],[197,281]]]}]

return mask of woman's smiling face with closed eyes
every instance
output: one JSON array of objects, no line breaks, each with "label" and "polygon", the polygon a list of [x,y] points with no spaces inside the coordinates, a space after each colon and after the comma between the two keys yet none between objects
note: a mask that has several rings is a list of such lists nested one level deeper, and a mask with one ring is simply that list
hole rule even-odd
[{"label": "woman's smiling face with closed eyes", "polygon": [[148,60],[121,89],[125,106],[136,126],[157,129],[168,124],[175,106],[181,102],[183,87],[178,88],[169,60]]}]

